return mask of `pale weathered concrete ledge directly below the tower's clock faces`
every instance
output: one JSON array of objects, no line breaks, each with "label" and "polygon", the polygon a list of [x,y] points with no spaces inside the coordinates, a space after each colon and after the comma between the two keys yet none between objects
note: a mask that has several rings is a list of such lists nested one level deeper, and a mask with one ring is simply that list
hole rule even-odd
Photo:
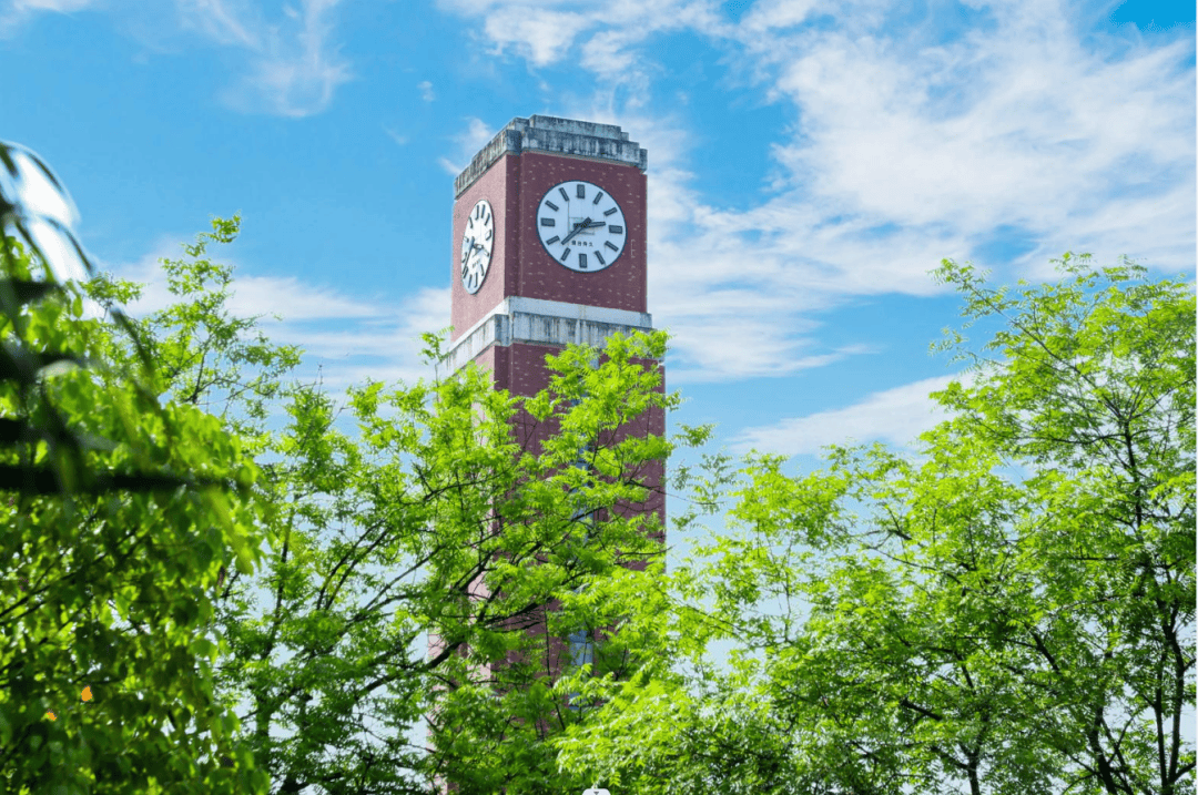
[{"label": "pale weathered concrete ledge directly below the tower's clock faces", "polygon": [[508,297],[458,338],[437,364],[437,377],[448,377],[491,345],[513,342],[565,347],[570,342],[603,348],[621,332],[652,332],[653,316],[604,307],[583,307],[539,298]]}]

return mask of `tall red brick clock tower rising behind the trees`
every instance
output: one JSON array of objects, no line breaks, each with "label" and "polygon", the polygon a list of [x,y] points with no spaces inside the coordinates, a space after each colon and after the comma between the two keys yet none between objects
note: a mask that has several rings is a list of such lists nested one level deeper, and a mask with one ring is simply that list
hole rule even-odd
[{"label": "tall red brick clock tower rising behind the trees", "polygon": [[[619,127],[553,116],[513,119],[474,156],[454,181],[453,332],[442,375],[476,362],[496,389],[531,396],[549,386],[546,354],[569,342],[603,348],[616,332],[653,329],[646,311],[646,168],[647,152]],[[658,369],[657,392],[664,393],[664,365],[636,362]],[[515,441],[539,453],[550,429],[522,412],[513,423]],[[646,412],[611,442],[646,433],[665,433],[662,409]],[[654,512],[664,528],[662,478],[660,462],[646,466],[646,502],[612,511]],[[528,631],[543,633],[544,621]],[[547,638],[547,669],[589,659],[595,639]]]}]

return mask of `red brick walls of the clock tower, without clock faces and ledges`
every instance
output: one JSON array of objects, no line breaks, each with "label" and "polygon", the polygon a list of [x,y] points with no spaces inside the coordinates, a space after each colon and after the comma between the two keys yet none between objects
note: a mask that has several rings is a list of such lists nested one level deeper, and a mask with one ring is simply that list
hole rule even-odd
[{"label": "red brick walls of the clock tower, without clock faces and ledges", "polygon": [[[553,125],[569,128],[570,120],[550,120]],[[538,123],[546,123],[538,119]],[[612,128],[615,129],[615,128]],[[601,134],[610,134],[611,131]],[[621,133],[621,140],[628,135]],[[615,140],[615,139],[613,139]],[[502,141],[501,141],[502,142]],[[494,142],[492,142],[494,144]],[[492,146],[492,145],[489,145]],[[495,145],[496,147],[498,145]],[[634,145],[635,146],[635,145]],[[563,152],[544,153],[538,151],[510,151],[500,154],[485,165],[485,160],[500,150],[484,147],[486,157],[476,157],[472,166],[459,177],[458,186],[465,184],[465,190],[454,204],[453,239],[450,241],[450,285],[452,314],[454,328],[449,344],[456,342],[471,327],[489,311],[498,307],[504,298],[519,296],[541,298],[586,307],[605,307],[634,312],[647,312],[647,262],[646,262],[646,190],[647,180],[643,170],[635,164],[599,160]],[[640,164],[645,164],[645,151],[640,152]],[[479,174],[479,170],[485,170]],[[468,177],[468,178],[467,178]],[[537,235],[537,208],[541,198],[553,186],[571,180],[582,180],[600,186],[611,195],[624,212],[628,226],[627,243],[619,259],[610,267],[595,273],[577,273],[563,267],[543,248]],[[495,212],[495,244],[491,263],[482,287],[471,295],[461,284],[459,254],[466,220],[474,205],[486,199]],[[510,346],[490,345],[473,362],[492,374],[497,389],[507,389],[513,395],[531,396],[550,386],[552,372],[545,365],[545,356],[559,353],[562,346],[513,342]],[[606,362],[600,354],[600,364]],[[657,370],[661,376],[657,386],[658,394],[665,394],[665,366],[660,362],[635,359],[647,370]],[[539,454],[541,444],[557,430],[553,417],[544,424],[538,424],[522,408],[513,417],[515,442],[530,454]],[[600,437],[604,447],[610,447],[633,436],[654,433],[665,435],[665,411],[654,408]],[[662,532],[655,535],[665,544],[665,466],[662,462],[646,465],[641,472],[628,472],[627,475],[641,481],[648,490],[645,502],[617,504],[612,511],[623,517],[657,516]],[[604,521],[606,511],[597,517]],[[643,564],[629,562],[631,568],[643,569]],[[555,606],[547,606],[553,609]],[[527,617],[521,627],[532,635],[541,635],[544,624],[541,617]],[[601,635],[601,632],[600,632]],[[568,649],[559,638],[549,639],[549,660],[546,664],[553,675],[567,663]],[[513,661],[514,662],[514,661]]]}]

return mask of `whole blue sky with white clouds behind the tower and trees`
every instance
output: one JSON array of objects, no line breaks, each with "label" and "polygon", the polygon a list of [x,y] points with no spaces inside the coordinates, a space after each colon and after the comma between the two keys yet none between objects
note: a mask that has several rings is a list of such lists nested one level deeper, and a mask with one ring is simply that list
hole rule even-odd
[{"label": "whole blue sky with white clouds behind the tower and trees", "polygon": [[[1194,7],[1115,0],[0,0],[0,138],[104,268],[243,219],[235,307],[335,390],[430,372],[453,177],[515,116],[648,150],[674,420],[810,457],[910,441],[960,365],[942,257],[1194,268]],[[975,335],[976,338],[976,335]],[[980,341],[980,340],[979,340]]]}]

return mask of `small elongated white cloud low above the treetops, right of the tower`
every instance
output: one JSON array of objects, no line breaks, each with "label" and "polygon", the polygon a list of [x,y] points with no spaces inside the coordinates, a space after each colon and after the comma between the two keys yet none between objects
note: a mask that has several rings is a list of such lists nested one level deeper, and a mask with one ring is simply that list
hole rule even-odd
[{"label": "small elongated white cloud low above the treetops, right of the tower", "polygon": [[834,411],[793,417],[774,425],[744,429],[730,445],[734,455],[750,449],[779,455],[819,455],[828,444],[887,442],[909,445],[916,437],[949,419],[928,393],[962,376],[937,376],[877,392],[859,403]]}]

